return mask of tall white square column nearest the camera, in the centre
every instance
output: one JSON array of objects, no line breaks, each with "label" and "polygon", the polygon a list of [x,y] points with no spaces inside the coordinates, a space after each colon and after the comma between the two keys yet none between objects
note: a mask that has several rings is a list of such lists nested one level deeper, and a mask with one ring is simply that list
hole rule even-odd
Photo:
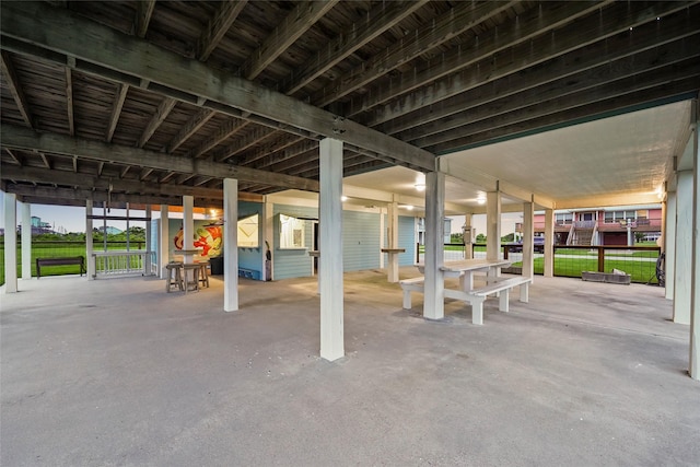
[{"label": "tall white square column nearest the camera, in the centre", "polygon": [[326,138],[319,144],[320,357],[345,355],[342,284],[342,141]]}]

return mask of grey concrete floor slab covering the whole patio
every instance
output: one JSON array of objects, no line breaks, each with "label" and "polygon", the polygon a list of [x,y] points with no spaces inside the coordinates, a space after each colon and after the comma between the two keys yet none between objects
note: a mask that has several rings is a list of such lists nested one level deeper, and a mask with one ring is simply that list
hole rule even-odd
[{"label": "grey concrete floor slab covering the whole patio", "polygon": [[315,278],[242,280],[229,314],[215,278],[20,281],[0,297],[0,464],[698,465],[689,329],[662,289],[537,277],[474,326],[457,302],[439,323],[421,295],[401,310],[385,271],[345,280],[334,363]]}]

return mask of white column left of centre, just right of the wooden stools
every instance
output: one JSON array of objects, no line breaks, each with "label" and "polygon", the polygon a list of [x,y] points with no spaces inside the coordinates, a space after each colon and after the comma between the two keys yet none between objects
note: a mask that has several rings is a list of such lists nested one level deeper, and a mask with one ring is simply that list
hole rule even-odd
[{"label": "white column left of centre, just right of the wooden stools", "polygon": [[238,180],[235,178],[223,179],[223,311],[235,312],[238,310]]}]

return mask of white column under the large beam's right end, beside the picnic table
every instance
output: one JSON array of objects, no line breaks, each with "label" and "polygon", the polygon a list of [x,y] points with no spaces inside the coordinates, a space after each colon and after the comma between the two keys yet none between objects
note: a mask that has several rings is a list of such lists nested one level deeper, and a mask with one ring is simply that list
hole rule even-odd
[{"label": "white column under the large beam's right end, beside the picnic table", "polygon": [[425,174],[425,282],[423,317],[445,317],[444,229],[445,229],[445,174]]}]

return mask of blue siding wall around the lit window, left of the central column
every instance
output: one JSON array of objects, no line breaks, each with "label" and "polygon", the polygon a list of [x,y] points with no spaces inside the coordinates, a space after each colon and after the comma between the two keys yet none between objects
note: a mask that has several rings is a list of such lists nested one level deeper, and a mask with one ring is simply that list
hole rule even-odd
[{"label": "blue siding wall around the lit window, left of the central column", "polygon": [[305,222],[304,245],[301,249],[280,249],[280,217],[279,214],[300,218],[318,218],[318,209],[302,206],[275,205],[275,238],[272,244],[272,265],[275,279],[303,278],[311,276],[312,258],[308,250],[314,249],[313,221]]}]

